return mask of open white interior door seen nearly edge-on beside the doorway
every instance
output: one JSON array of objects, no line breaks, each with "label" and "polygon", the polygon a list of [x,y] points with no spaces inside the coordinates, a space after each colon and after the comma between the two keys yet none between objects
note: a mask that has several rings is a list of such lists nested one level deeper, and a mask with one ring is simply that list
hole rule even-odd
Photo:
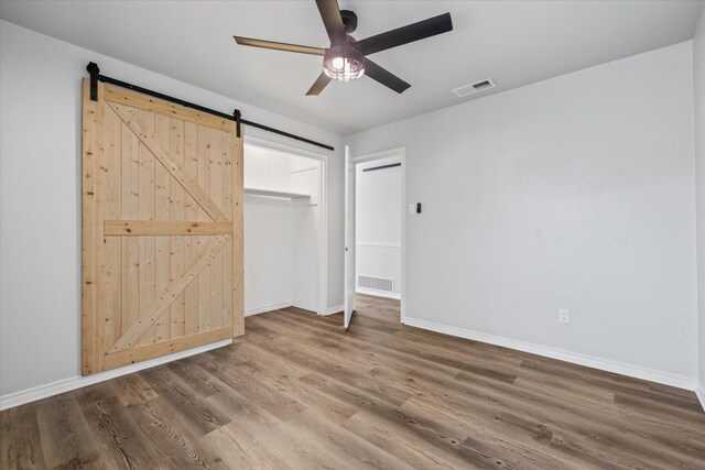
[{"label": "open white interior door seen nearly edge-on beside the doorway", "polygon": [[345,146],[345,307],[343,326],[347,329],[355,311],[355,163]]}]

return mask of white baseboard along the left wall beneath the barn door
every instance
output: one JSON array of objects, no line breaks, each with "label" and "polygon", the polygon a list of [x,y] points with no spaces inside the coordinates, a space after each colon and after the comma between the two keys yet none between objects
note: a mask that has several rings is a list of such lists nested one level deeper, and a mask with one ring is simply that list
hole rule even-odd
[{"label": "white baseboard along the left wall beneath the barn door", "polygon": [[0,411],[13,408],[15,406],[20,406],[30,402],[36,402],[37,400],[58,395],[59,393],[70,392],[72,390],[93,385],[94,383],[104,382],[106,380],[153,368],[155,365],[165,364],[166,362],[172,362],[177,359],[199,354],[202,352],[210,351],[212,349],[223,348],[224,346],[228,346],[230,343],[232,343],[232,339],[224,339],[221,341],[212,342],[210,345],[186,349],[184,351],[174,352],[172,354],[162,356],[161,358],[150,359],[148,361],[138,362],[135,364],[126,365],[123,368],[112,369],[106,372],[98,372],[93,375],[63,379],[56,382],[47,383],[45,385],[39,385],[20,392],[9,393],[7,395],[0,396]]}]

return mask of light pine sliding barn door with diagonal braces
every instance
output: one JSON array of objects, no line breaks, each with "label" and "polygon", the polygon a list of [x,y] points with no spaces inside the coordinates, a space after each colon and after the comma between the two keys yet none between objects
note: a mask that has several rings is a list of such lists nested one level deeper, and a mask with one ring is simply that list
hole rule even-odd
[{"label": "light pine sliding barn door with diagonal braces", "polygon": [[83,105],[83,374],[243,334],[235,122],[98,84]]}]

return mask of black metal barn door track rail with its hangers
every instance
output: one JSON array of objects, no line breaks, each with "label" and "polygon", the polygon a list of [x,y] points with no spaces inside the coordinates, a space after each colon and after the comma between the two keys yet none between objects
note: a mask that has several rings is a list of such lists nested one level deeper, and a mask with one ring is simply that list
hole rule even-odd
[{"label": "black metal barn door track rail with its hangers", "polygon": [[247,119],[242,119],[241,112],[239,109],[232,111],[232,114],[226,114],[225,112],[216,111],[215,109],[206,108],[205,106],[196,105],[189,101],[184,101],[180,98],[174,98],[169,95],[161,94],[159,91],[150,90],[148,88],[142,88],[138,85],[129,84],[127,81],[118,80],[117,78],[107,77],[105,75],[100,75],[100,68],[98,68],[98,64],[95,62],[88,63],[86,67],[88,74],[90,74],[90,99],[93,101],[98,101],[98,81],[102,81],[105,84],[115,85],[118,87],[127,88],[132,91],[137,91],[143,95],[149,95],[154,98],[163,99],[164,101],[174,102],[176,105],[181,105],[185,108],[195,109],[197,111],[207,112],[209,114],[217,116],[223,119],[228,119],[230,121],[235,121],[237,123],[237,135],[240,136],[240,124],[251,125],[253,128],[262,129],[267,132],[272,132],[274,134],[283,135],[289,139],[294,139],[301,142],[308,143],[311,145],[316,145],[326,150],[335,150],[332,145],[327,145],[325,143],[316,142],[311,139],[302,138],[301,135],[292,134],[291,132],[281,131],[275,128],[271,128],[269,125],[260,124],[258,122],[248,121]]}]

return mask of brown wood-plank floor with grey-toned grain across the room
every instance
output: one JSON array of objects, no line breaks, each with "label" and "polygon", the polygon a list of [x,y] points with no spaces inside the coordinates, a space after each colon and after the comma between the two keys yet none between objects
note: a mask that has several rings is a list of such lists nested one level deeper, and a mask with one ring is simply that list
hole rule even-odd
[{"label": "brown wood-plank floor with grey-toned grain across the room", "polygon": [[399,323],[246,319],[232,346],[0,414],[0,468],[705,469],[692,392]]}]

